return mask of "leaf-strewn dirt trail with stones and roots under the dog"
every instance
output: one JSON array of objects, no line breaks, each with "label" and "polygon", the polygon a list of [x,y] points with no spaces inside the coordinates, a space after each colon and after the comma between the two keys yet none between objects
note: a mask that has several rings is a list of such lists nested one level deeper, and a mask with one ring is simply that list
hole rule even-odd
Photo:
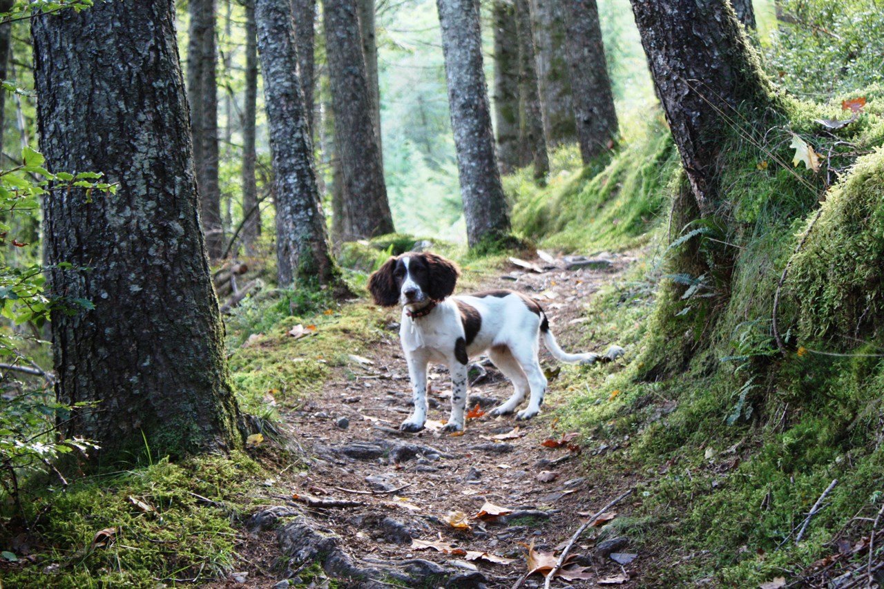
[{"label": "leaf-strewn dirt trail with stones and roots under the dog", "polygon": [[[530,263],[543,272],[513,265],[484,279],[479,289],[507,287],[534,296],[563,348],[576,351],[589,297],[634,259],[612,255],[603,263],[570,268],[561,258],[553,264],[535,259]],[[428,429],[399,432],[410,410],[410,389],[398,315],[391,312],[390,318],[389,336],[369,357],[351,356],[353,363],[335,369],[321,394],[285,416],[308,456],[309,470],[267,481],[264,497],[278,507],[255,514],[247,524],[248,540],[238,549],[247,576],[211,586],[332,586],[327,576],[341,587],[509,588],[527,571],[526,546],[559,555],[586,517],[629,488],[628,480],[617,478],[597,486],[583,469],[587,456],[610,454],[616,447],[542,445],[552,432],[549,405],[525,423],[484,415],[469,419],[462,435],[439,432],[451,394],[442,366],[431,370]],[[604,351],[611,343],[598,341],[589,351]],[[557,364],[542,354],[542,363],[554,369]],[[491,409],[511,392],[491,363],[471,369],[470,378],[470,408]],[[564,402],[555,381],[550,389],[547,403]],[[469,517],[469,528],[446,522],[456,518],[452,512],[474,516],[486,503],[512,512]],[[614,510],[622,516],[631,505],[623,501]],[[552,587],[639,585],[640,567],[648,566],[650,557],[614,562],[612,552],[629,561],[635,550],[610,534],[595,539],[597,533],[586,532],[570,550],[574,565],[589,578],[556,578]],[[415,540],[434,547],[417,549]],[[521,586],[542,587],[544,580],[534,574]],[[600,580],[611,583],[598,585]]]}]

